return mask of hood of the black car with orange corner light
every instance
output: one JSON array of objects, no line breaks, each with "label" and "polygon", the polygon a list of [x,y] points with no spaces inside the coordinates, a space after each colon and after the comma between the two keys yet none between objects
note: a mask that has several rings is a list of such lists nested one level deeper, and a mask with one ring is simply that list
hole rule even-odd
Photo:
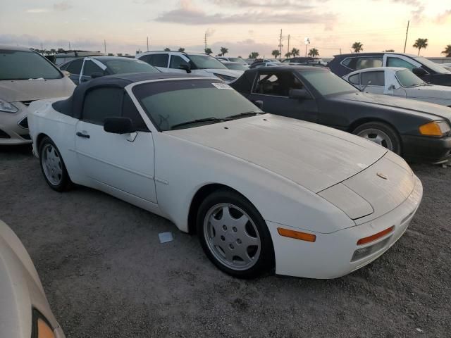
[{"label": "hood of the black car with orange corner light", "polygon": [[371,104],[385,106],[388,108],[401,108],[403,110],[412,111],[412,113],[426,113],[431,115],[431,119],[445,119],[451,123],[451,109],[438,104],[430,104],[428,102],[416,101],[412,99],[403,99],[381,94],[371,94],[368,92],[357,92],[351,94],[341,94],[333,97],[333,101],[354,101],[362,104]]}]

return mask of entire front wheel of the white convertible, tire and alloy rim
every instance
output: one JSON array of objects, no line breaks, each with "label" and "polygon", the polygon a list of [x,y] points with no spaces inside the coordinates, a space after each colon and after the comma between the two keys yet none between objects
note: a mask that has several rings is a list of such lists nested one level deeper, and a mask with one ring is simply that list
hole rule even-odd
[{"label": "entire front wheel of the white convertible, tire and alloy rim", "polygon": [[207,196],[197,213],[197,233],[206,256],[229,275],[253,278],[274,266],[268,227],[240,194],[220,190]]}]

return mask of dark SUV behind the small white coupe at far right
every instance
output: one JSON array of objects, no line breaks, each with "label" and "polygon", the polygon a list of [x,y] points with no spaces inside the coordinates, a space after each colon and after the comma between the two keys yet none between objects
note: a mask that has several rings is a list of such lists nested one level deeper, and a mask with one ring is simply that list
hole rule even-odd
[{"label": "dark SUV behind the small white coupe at far right", "polygon": [[376,67],[402,67],[411,70],[421,80],[451,86],[451,72],[422,56],[403,53],[354,53],[335,55],[328,68],[338,76],[354,70]]}]

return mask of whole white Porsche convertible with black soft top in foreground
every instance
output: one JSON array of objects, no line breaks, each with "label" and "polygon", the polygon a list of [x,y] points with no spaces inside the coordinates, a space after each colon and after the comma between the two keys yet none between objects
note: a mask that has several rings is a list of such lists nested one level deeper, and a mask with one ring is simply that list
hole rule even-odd
[{"label": "whole white Porsche convertible with black soft top in foreground", "polygon": [[265,114],[214,78],[99,77],[29,114],[51,188],[82,184],[168,218],[236,277],[346,275],[389,249],[421,201],[399,156]]}]

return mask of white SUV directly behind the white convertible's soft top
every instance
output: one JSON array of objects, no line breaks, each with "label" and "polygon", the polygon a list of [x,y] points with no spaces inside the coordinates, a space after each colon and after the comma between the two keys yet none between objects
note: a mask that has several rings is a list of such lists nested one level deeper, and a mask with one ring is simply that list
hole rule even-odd
[{"label": "white SUV directly behind the white convertible's soft top", "polygon": [[164,73],[190,73],[200,76],[215,76],[225,82],[236,80],[240,70],[230,70],[213,56],[181,51],[144,51],[135,58],[153,65]]}]

